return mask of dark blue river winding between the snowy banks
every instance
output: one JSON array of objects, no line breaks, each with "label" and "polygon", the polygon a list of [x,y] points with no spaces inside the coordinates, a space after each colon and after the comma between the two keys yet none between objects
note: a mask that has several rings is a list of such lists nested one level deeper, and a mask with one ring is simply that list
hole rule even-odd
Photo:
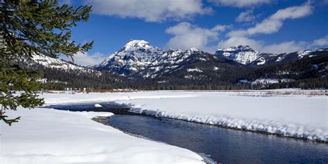
[{"label": "dark blue river winding between the snowy banks", "polygon": [[125,112],[105,119],[108,125],[193,152],[210,154],[210,158],[220,163],[328,163],[327,144],[168,118],[127,115],[129,107],[112,102],[100,102],[102,108],[94,108],[93,104],[66,104],[65,107],[52,108],[71,111],[122,109]]}]

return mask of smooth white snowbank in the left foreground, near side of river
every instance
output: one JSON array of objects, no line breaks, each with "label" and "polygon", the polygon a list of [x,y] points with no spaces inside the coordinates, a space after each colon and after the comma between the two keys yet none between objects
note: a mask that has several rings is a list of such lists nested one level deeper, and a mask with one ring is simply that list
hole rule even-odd
[{"label": "smooth white snowbank in the left foreground, near side of river", "polygon": [[124,134],[90,120],[112,113],[19,109],[1,125],[0,163],[203,163],[188,149]]}]

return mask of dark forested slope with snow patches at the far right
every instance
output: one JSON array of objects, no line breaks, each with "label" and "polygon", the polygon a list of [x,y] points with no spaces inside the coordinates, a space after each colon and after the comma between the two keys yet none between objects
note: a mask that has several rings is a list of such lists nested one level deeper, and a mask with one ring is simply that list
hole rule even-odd
[{"label": "dark forested slope with snow patches at the far right", "polygon": [[[320,51],[322,52],[322,51]],[[305,52],[309,53],[309,52]],[[253,89],[257,85],[258,89],[277,89],[277,88],[327,88],[328,86],[328,53],[313,57],[305,55],[300,60],[275,64],[274,66],[263,66],[250,71],[245,80],[241,83],[252,83]],[[294,53],[293,53],[294,54]]]}]

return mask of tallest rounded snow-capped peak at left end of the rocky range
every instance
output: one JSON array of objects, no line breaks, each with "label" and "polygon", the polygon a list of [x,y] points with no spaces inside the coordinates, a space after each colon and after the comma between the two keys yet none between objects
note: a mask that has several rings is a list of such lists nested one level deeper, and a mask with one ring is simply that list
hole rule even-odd
[{"label": "tallest rounded snow-capped peak at left end of the rocky range", "polygon": [[131,75],[143,71],[157,57],[163,54],[160,48],[151,46],[144,40],[131,40],[104,62],[91,66],[97,70],[107,70],[119,75]]}]

